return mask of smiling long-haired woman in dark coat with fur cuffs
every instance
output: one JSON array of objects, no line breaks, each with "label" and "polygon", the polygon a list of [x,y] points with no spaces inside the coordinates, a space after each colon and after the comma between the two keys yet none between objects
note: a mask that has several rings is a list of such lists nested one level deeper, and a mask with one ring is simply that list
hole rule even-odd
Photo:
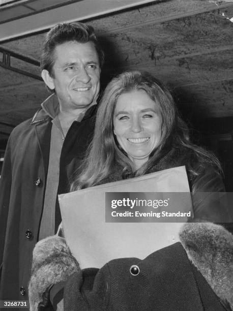
[{"label": "smiling long-haired woman in dark coat with fur cuffs", "polygon": [[[194,221],[220,222],[228,217],[215,198],[216,192],[224,191],[218,160],[189,141],[169,91],[156,78],[126,72],[104,92],[92,144],[71,191],[181,165],[186,166],[193,194]],[[198,196],[199,192],[205,194]],[[180,237],[183,246],[170,245],[142,261],[118,259],[99,270],[85,271],[64,238],[48,237],[34,250],[31,309],[48,305],[46,289],[53,284],[50,299],[58,301],[62,292],[67,310],[219,311],[232,307],[232,235],[207,223],[186,224]],[[224,282],[215,287],[218,281],[208,275]]]}]

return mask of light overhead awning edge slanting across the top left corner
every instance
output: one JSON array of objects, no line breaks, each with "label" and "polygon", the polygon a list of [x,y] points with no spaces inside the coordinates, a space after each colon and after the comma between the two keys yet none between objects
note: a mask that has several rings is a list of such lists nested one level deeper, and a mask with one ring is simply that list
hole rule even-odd
[{"label": "light overhead awning edge slanting across the top left corner", "polygon": [[[0,6],[0,42],[48,29],[58,22],[97,16],[159,0],[18,0]],[[161,0],[160,0],[161,2]]]}]

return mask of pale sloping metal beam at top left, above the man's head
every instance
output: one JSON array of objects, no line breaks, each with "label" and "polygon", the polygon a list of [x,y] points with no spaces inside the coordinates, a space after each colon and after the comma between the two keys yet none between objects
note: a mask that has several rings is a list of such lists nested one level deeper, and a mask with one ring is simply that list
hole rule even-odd
[{"label": "pale sloping metal beam at top left, above the man's head", "polygon": [[1,24],[0,42],[47,30],[56,23],[83,21],[164,0],[83,0]]}]

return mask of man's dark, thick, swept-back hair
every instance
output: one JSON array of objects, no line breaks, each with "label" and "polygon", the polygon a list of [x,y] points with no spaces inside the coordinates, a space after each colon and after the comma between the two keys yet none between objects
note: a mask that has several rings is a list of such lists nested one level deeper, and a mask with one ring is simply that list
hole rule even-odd
[{"label": "man's dark, thick, swept-back hair", "polygon": [[45,37],[41,53],[41,70],[46,69],[50,76],[53,75],[54,49],[57,45],[76,41],[79,43],[93,42],[99,57],[100,67],[104,63],[104,52],[94,33],[94,28],[79,22],[56,24]]}]

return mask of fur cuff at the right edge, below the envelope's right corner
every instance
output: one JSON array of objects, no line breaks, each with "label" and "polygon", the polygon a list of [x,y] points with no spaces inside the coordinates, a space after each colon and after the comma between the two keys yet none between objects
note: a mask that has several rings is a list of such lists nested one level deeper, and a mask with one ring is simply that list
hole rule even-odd
[{"label": "fur cuff at the right edge, below the envelope's right corner", "polygon": [[233,309],[233,235],[212,223],[187,223],[179,235],[189,260]]}]

